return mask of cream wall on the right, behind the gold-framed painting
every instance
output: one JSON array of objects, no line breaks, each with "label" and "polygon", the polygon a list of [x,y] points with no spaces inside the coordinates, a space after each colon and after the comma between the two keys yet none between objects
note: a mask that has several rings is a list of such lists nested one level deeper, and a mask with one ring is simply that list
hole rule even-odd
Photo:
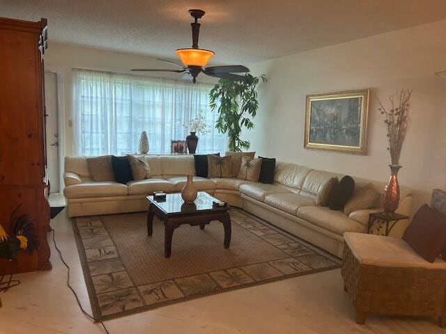
[{"label": "cream wall on the right, behind the gold-framed painting", "polygon": [[[390,157],[375,96],[386,101],[396,88],[413,88],[399,181],[415,189],[419,207],[446,184],[446,80],[434,75],[446,68],[445,31],[446,20],[254,64],[268,83],[259,91],[256,127],[245,137],[266,157],[385,181]],[[306,95],[361,88],[371,88],[367,155],[305,150]]]}]

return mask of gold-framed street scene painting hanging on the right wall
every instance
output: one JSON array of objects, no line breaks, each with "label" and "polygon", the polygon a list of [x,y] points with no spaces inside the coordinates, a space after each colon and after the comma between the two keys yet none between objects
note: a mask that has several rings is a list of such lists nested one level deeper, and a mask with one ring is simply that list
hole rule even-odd
[{"label": "gold-framed street scene painting hanging on the right wall", "polygon": [[366,154],[369,89],[307,95],[304,148]]}]

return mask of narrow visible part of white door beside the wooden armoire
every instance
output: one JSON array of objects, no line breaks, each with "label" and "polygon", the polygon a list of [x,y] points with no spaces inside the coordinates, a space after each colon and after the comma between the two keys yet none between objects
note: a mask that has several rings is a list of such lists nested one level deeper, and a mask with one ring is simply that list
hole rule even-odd
[{"label": "narrow visible part of white door beside the wooden armoire", "polygon": [[45,108],[47,113],[47,169],[49,193],[60,192],[59,182],[59,108],[57,74],[45,72]]}]

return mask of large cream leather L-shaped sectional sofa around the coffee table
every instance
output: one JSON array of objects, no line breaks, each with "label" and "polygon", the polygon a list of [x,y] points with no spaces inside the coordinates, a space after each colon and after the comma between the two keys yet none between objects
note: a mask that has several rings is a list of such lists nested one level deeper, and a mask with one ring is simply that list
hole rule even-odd
[{"label": "large cream leather L-shaped sectional sofa around the coffee table", "polygon": [[[148,207],[146,196],[153,191],[167,193],[180,191],[187,174],[195,174],[193,156],[147,156],[151,178],[132,181],[94,182],[91,179],[86,157],[66,157],[63,193],[68,202],[70,217],[122,212],[143,212]],[[370,212],[359,210],[346,216],[316,205],[318,193],[330,178],[340,174],[314,170],[305,166],[277,161],[274,184],[249,182],[236,178],[206,179],[194,177],[197,189],[226,200],[229,205],[240,207],[259,216],[283,230],[295,234],[330,253],[342,256],[344,232],[365,232]],[[355,178],[356,189],[371,183],[382,191],[384,182]],[[409,189],[401,187],[401,200],[397,212],[408,214],[412,196]],[[392,230],[401,237],[408,222],[401,222]]]}]

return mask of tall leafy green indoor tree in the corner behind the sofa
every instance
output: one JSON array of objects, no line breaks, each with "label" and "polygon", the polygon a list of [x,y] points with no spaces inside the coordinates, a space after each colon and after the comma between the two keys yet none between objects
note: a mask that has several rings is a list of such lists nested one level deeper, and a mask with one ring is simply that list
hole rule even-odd
[{"label": "tall leafy green indoor tree in the corner behind the sofa", "polygon": [[266,82],[265,74],[254,77],[247,73],[240,81],[220,79],[210,90],[210,109],[218,113],[215,128],[229,137],[230,151],[249,149],[249,141],[243,141],[240,134],[243,127],[249,130],[254,127],[250,118],[254,118],[259,109],[256,92],[259,81]]}]

